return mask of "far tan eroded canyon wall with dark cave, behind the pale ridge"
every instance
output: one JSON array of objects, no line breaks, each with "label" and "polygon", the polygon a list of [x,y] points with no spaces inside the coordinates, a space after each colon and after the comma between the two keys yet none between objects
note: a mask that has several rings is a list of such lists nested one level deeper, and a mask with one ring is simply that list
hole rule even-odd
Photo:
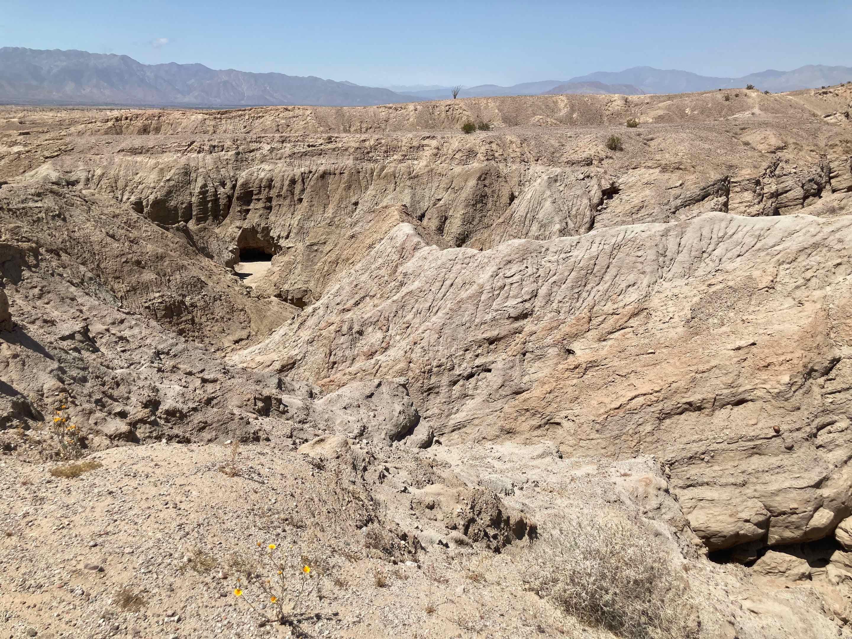
[{"label": "far tan eroded canyon wall with dark cave, behind the pale ridge", "polygon": [[[398,222],[441,248],[490,249],[711,211],[836,214],[852,188],[852,142],[820,113],[848,93],[131,112],[20,147],[2,166],[106,195],[164,227],[186,225],[225,266],[239,248],[263,250],[273,265],[262,292],[307,304]],[[576,118],[536,119],[563,111]],[[647,124],[606,124],[627,117]],[[498,128],[446,130],[466,118]],[[378,124],[356,134],[347,119]],[[607,149],[611,133],[624,151]]]}]

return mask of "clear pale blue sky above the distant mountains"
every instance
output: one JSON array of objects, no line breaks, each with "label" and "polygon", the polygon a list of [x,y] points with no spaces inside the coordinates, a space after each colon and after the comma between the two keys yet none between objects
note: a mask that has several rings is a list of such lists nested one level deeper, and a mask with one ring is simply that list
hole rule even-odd
[{"label": "clear pale blue sky above the distant mountains", "polygon": [[852,66],[852,2],[3,0],[0,46],[388,84]]}]

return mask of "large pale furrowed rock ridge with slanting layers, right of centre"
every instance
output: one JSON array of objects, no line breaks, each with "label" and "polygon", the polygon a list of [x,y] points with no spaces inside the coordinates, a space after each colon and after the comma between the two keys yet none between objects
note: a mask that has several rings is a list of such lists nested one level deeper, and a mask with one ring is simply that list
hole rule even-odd
[{"label": "large pale furrowed rock ridge with slanting layers, right of centre", "polygon": [[850,233],[848,218],[717,213],[480,252],[400,225],[238,360],[331,389],[404,375],[444,441],[659,455],[711,550],[808,541],[852,507],[848,329],[829,310]]}]

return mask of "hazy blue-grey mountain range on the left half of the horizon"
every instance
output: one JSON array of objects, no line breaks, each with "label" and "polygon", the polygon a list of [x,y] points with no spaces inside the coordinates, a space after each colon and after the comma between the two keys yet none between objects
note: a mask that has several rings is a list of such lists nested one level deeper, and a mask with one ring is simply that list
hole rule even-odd
[{"label": "hazy blue-grey mountain range on the left half of the horizon", "polygon": [[0,49],[0,103],[243,107],[357,107],[423,100],[389,89],[284,73],[216,71],[204,65],[143,65],[127,55]]}]

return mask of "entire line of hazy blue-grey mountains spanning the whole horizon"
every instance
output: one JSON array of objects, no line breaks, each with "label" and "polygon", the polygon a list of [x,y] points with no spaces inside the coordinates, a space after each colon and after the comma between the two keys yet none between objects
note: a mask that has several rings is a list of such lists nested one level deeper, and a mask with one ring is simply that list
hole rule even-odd
[{"label": "entire line of hazy blue-grey mountains spanning the whole horizon", "polygon": [[[743,78],[635,66],[569,80],[541,80],[504,87],[480,84],[460,98],[496,95],[667,94],[728,89],[754,84],[772,92],[810,89],[852,80],[849,66],[802,66],[763,71]],[[396,89],[396,90],[391,90]],[[151,107],[249,107],[325,105],[358,107],[421,100],[446,100],[438,84],[365,87],[314,76],[217,71],[200,64],[144,65],[127,55],[60,49],[0,48],[0,103],[81,104]]]}]

